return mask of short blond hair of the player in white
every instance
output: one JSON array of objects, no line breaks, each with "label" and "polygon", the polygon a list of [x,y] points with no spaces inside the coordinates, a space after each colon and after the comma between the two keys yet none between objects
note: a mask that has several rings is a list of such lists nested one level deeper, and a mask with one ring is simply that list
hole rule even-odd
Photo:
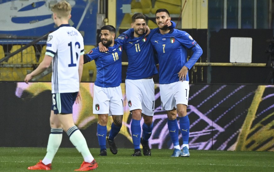
[{"label": "short blond hair of the player in white", "polygon": [[60,1],[51,6],[51,11],[55,13],[58,18],[67,18],[71,13],[71,6],[67,1]]}]

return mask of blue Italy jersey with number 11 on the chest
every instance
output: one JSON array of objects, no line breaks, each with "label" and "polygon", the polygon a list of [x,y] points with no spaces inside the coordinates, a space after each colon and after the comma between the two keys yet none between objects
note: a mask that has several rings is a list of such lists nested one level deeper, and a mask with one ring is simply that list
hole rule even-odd
[{"label": "blue Italy jersey with number 11 on the chest", "polygon": [[128,59],[126,79],[143,79],[158,73],[155,66],[153,48],[149,41],[154,33],[153,30],[147,37],[144,34],[135,38],[133,36],[134,30],[129,29],[116,39],[126,51]]}]

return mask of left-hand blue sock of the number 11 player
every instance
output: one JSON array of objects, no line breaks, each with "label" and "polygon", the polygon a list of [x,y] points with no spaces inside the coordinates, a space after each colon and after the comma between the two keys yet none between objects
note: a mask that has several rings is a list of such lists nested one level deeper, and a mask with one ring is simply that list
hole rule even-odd
[{"label": "left-hand blue sock of the number 11 player", "polygon": [[131,134],[132,134],[132,142],[134,145],[134,149],[140,149],[140,141],[141,141],[141,120],[132,119],[131,122]]}]

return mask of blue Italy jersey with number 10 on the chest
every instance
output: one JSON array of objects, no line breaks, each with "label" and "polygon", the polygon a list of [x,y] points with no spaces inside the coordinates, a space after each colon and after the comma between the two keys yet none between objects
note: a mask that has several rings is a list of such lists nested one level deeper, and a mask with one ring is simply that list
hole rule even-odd
[{"label": "blue Italy jersey with number 10 on the chest", "polygon": [[115,43],[109,51],[99,52],[93,48],[87,53],[88,61],[95,61],[97,75],[95,85],[98,87],[117,87],[122,82],[122,46]]}]

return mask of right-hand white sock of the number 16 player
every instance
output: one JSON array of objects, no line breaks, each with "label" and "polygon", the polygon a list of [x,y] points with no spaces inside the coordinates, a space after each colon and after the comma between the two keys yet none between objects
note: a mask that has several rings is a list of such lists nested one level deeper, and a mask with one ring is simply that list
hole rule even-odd
[{"label": "right-hand white sock of the number 16 player", "polygon": [[73,134],[70,135],[69,139],[76,149],[82,154],[85,162],[90,163],[94,160],[89,151],[86,139],[79,129],[75,130]]}]

